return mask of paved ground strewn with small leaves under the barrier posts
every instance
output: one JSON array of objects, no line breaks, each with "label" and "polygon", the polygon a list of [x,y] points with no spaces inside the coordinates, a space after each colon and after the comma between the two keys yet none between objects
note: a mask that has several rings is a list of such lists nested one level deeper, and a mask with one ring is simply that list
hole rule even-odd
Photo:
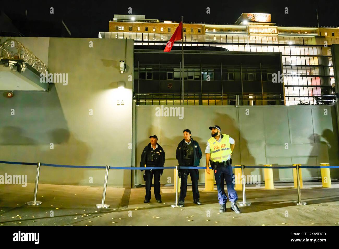
[{"label": "paved ground strewn with small leaves under the barrier posts", "polygon": [[[280,185],[280,186],[278,186]],[[275,184],[276,189],[246,187],[249,207],[236,214],[227,202],[227,212],[219,213],[217,193],[200,189],[203,205],[193,204],[188,189],[185,207],[172,208],[173,187],[161,187],[163,203],[144,204],[144,188],[107,188],[106,204],[98,210],[102,187],[39,184],[37,201],[41,206],[24,205],[33,200],[33,184],[0,185],[0,225],[336,225],[339,226],[339,182],[332,188],[321,183],[304,183],[301,190],[306,206],[295,206],[297,190],[291,184]],[[201,186],[203,187],[203,186]],[[153,188],[152,188],[153,191]],[[153,193],[152,193],[153,194]],[[239,201],[242,192],[238,191]],[[51,212],[53,211],[53,212]],[[53,217],[51,217],[53,214]]]}]

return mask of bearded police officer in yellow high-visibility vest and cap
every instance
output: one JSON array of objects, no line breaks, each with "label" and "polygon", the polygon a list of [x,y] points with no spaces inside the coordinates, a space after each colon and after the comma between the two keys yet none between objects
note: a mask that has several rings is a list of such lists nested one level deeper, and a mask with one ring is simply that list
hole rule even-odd
[{"label": "bearded police officer in yellow high-visibility vest and cap", "polygon": [[236,213],[240,213],[241,210],[237,206],[238,195],[233,184],[231,159],[235,141],[230,136],[221,134],[221,129],[218,125],[210,126],[210,130],[212,130],[212,138],[207,140],[207,146],[205,150],[206,171],[207,174],[210,174],[208,163],[211,161],[211,167],[214,170],[215,181],[218,189],[218,199],[220,204],[219,212],[226,212],[227,196],[224,190],[225,179],[228,199],[231,201],[231,209]]}]

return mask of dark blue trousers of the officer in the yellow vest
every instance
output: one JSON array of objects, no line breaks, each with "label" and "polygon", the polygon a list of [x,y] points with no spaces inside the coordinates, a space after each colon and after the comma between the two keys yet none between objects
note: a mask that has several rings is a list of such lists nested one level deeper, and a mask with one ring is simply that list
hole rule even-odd
[{"label": "dark blue trousers of the officer in the yellow vest", "polygon": [[224,180],[226,181],[228,199],[230,199],[231,202],[237,201],[238,194],[234,189],[232,166],[218,166],[217,172],[214,173],[214,177],[218,189],[219,204],[225,204],[227,201],[227,196],[224,189]]}]

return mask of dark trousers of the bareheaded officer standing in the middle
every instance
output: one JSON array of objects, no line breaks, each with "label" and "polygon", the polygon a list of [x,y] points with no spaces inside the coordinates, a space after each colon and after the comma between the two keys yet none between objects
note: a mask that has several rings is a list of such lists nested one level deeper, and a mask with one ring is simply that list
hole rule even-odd
[{"label": "dark trousers of the bareheaded officer standing in the middle", "polygon": [[197,169],[180,169],[181,174],[181,184],[180,184],[180,196],[179,201],[184,202],[187,192],[187,177],[190,173],[192,180],[192,191],[193,191],[193,200],[199,199],[199,190],[198,190],[198,180],[199,180],[199,172]]}]

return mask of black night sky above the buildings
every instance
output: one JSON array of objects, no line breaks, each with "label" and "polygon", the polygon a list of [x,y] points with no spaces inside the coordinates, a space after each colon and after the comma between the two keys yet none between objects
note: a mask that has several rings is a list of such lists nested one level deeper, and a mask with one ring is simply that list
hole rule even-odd
[{"label": "black night sky above the buildings", "polygon": [[[71,37],[98,38],[100,31],[108,31],[109,19],[113,19],[114,14],[128,14],[128,7],[132,7],[133,15],[145,15],[148,19],[180,21],[184,16],[184,22],[219,24],[234,24],[241,13],[271,13],[272,22],[280,26],[318,26],[318,8],[320,26],[339,26],[339,3],[327,0],[39,2],[3,0],[1,10],[24,36],[35,37],[68,37],[61,23],[63,20]],[[50,7],[54,7],[54,14],[49,13]],[[207,7],[211,8],[211,14],[206,14]],[[285,7],[289,14],[284,14]]]}]

